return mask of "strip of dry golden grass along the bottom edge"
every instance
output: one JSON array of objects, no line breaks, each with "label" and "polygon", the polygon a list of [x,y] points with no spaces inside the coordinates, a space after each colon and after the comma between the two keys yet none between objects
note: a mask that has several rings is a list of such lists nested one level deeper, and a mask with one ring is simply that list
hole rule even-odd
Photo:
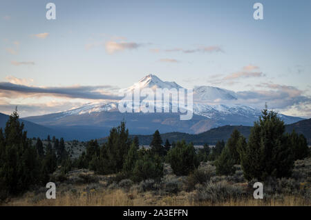
[{"label": "strip of dry golden grass along the bottom edge", "polygon": [[155,195],[153,192],[124,192],[121,189],[104,190],[103,192],[82,192],[79,194],[57,194],[57,199],[41,199],[32,201],[34,194],[11,199],[4,206],[310,206],[301,197],[288,196],[277,199],[229,199],[212,203],[211,201],[196,202],[189,199],[191,192],[180,192],[173,196]]}]

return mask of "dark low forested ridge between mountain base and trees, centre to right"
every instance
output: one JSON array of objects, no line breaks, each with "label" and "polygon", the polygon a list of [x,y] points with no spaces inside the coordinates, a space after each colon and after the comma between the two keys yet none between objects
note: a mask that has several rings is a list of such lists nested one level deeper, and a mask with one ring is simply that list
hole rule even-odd
[{"label": "dark low forested ridge between mountain base and trees, centre to right", "polygon": [[[232,134],[234,129],[237,129],[244,137],[249,137],[251,126],[221,126],[218,128],[212,128],[206,132],[200,134],[187,134],[182,132],[169,132],[161,134],[162,140],[165,141],[169,139],[169,142],[172,141],[181,141],[185,140],[186,142],[193,142],[194,145],[202,145],[204,143],[209,143],[214,145],[218,140],[227,141],[230,134]],[[311,144],[311,119],[305,119],[290,125],[285,125],[286,132],[292,132],[295,130],[299,134],[303,134],[308,140],[308,143]],[[131,135],[133,138],[135,135]],[[142,145],[149,145],[152,140],[152,135],[137,135]],[[106,138],[100,139],[100,142],[106,141]]]}]

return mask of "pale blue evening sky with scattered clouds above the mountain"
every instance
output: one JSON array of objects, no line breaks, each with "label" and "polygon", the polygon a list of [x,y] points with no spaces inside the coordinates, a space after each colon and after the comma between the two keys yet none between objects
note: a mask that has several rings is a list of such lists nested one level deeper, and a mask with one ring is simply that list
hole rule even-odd
[{"label": "pale blue evening sky with scattered clouds above the mountain", "polygon": [[[48,2],[55,20],[46,19]],[[263,20],[253,17],[256,2]],[[69,110],[156,74],[311,117],[311,1],[0,4],[0,112]]]}]

